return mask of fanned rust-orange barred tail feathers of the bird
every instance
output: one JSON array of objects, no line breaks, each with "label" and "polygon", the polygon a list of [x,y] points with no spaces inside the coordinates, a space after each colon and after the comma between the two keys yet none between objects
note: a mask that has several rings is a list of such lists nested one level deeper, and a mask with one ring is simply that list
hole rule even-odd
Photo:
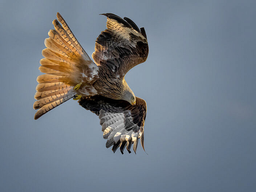
[{"label": "fanned rust-orange barred tail feathers of the bird", "polygon": [[48,32],[49,38],[42,50],[45,57],[40,60],[40,72],[45,73],[37,77],[38,85],[34,96],[34,109],[38,109],[34,119],[38,119],[48,111],[68,101],[76,94],[73,87],[81,80],[77,77],[77,67],[81,60],[91,61],[76,37],[57,13],[57,20],[53,21],[55,30]]}]

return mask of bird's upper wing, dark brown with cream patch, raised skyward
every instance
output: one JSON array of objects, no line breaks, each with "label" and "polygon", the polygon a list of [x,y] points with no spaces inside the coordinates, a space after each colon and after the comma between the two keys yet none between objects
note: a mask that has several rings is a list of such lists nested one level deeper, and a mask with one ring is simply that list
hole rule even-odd
[{"label": "bird's upper wing, dark brown with cream patch, raised skyward", "polygon": [[145,30],[127,17],[122,19],[112,13],[102,15],[107,16],[107,29],[96,39],[92,58],[98,66],[124,77],[131,68],[147,59],[149,46]]}]

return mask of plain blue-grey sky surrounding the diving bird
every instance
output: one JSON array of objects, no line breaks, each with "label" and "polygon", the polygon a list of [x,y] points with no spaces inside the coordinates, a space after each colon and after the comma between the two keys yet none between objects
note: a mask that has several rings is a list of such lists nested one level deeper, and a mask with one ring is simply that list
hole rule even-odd
[{"label": "plain blue-grey sky surrounding the diving bird", "polygon": [[[0,0],[1,192],[255,192],[256,1]],[[149,56],[126,81],[147,102],[145,149],[105,148],[70,100],[34,120],[56,13],[91,56],[115,13],[145,27]]]}]

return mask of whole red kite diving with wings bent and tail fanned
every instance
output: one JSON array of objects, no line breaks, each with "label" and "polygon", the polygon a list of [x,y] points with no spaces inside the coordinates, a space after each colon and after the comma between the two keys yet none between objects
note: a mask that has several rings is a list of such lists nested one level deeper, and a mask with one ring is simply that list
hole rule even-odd
[{"label": "whole red kite diving with wings bent and tail fanned", "polygon": [[[94,61],[82,48],[66,21],[57,13],[55,30],[48,32],[40,60],[38,85],[34,98],[34,119],[73,98],[79,105],[99,116],[106,147],[126,147],[136,153],[138,140],[144,149],[146,102],[135,97],[127,85],[125,74],[145,62],[149,53],[144,28],[129,18],[112,13],[107,17],[107,29],[96,39]],[[61,23],[61,24],[60,24]]]}]

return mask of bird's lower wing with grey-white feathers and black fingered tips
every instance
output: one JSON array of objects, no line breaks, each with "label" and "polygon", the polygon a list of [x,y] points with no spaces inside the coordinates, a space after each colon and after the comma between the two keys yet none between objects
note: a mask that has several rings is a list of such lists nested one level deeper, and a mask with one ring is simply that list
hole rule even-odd
[{"label": "bird's lower wing with grey-white feathers and black fingered tips", "polygon": [[115,100],[100,95],[89,99],[81,99],[79,104],[99,116],[103,138],[107,139],[106,147],[113,145],[112,151],[118,147],[123,154],[126,146],[130,153],[131,145],[136,153],[138,140],[144,149],[144,122],[146,118],[146,102],[136,97],[136,105],[123,100]]}]

